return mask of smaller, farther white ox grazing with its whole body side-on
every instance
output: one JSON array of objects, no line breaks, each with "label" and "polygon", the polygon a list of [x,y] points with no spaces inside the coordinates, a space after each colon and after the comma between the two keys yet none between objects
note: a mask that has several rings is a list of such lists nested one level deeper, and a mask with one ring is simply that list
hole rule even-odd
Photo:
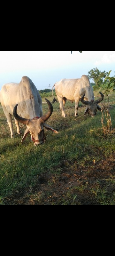
[{"label": "smaller, farther white ox grazing with its whole body side-on", "polygon": [[[62,79],[61,81],[54,84],[53,87],[54,86],[57,99],[59,100],[60,109],[62,110],[62,116],[66,116],[64,112],[66,100],[69,100],[72,103],[75,101],[75,116],[78,116],[77,110],[80,100],[83,104],[87,105],[84,115],[89,113],[92,117],[94,117],[96,115],[96,108],[101,111],[101,107],[98,105],[98,103],[104,99],[104,94],[99,92],[101,94],[101,98],[94,101],[94,93],[88,76],[83,75],[79,79]],[[54,98],[52,103],[55,101],[57,100]]]}]

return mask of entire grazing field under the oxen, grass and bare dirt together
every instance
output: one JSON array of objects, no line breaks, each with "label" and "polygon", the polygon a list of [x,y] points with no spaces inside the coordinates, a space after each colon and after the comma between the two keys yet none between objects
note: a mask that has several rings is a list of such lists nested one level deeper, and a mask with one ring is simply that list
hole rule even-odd
[{"label": "entire grazing field under the oxen, grass and bare dirt together", "polygon": [[[44,114],[48,105],[42,102]],[[100,111],[94,118],[84,116],[80,102],[75,117],[74,103],[66,101],[64,118],[59,102],[53,104],[46,123],[58,134],[44,129],[46,142],[38,147],[30,135],[21,143],[14,120],[15,138],[10,138],[0,105],[0,204],[115,204],[115,96],[110,104],[113,131],[105,136]],[[26,126],[20,128],[24,134]]]}]

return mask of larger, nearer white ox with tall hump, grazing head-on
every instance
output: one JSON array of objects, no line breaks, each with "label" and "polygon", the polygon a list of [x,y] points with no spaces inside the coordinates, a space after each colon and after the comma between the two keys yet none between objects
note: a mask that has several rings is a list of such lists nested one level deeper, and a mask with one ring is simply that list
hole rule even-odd
[{"label": "larger, nearer white ox with tall hump, grazing head-on", "polygon": [[23,76],[20,83],[8,83],[2,86],[0,101],[10,127],[11,138],[14,136],[11,115],[14,115],[18,134],[21,133],[19,122],[27,125],[27,129],[21,140],[22,142],[30,132],[34,146],[42,144],[45,140],[44,127],[58,133],[48,124],[45,124],[53,111],[50,101],[45,100],[48,103],[49,111],[43,116],[41,96],[32,80],[27,76]]}]

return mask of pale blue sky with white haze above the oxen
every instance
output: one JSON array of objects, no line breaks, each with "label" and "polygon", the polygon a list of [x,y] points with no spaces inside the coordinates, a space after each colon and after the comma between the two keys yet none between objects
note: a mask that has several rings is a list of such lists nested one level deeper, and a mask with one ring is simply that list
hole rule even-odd
[{"label": "pale blue sky with white haze above the oxen", "polygon": [[28,76],[38,90],[51,89],[62,78],[80,78],[96,67],[100,71],[112,70],[110,76],[114,76],[115,52],[0,51],[0,90],[5,83],[19,83],[22,76]]}]

